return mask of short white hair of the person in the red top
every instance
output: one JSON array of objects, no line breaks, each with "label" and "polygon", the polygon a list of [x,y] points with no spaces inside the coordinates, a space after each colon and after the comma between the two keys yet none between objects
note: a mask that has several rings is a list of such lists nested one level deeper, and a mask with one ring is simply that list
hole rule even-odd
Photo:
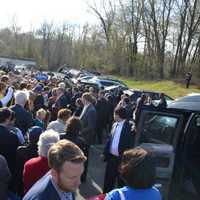
[{"label": "short white hair of the person in the red top", "polygon": [[38,141],[38,154],[47,157],[50,147],[60,140],[59,133],[50,129],[43,132]]}]

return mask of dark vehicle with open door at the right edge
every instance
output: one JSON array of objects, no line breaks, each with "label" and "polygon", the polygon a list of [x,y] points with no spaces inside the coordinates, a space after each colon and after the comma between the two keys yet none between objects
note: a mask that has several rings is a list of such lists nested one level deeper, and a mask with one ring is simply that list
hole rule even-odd
[{"label": "dark vehicle with open door at the right edge", "polygon": [[144,106],[135,146],[154,152],[156,186],[165,200],[200,197],[200,101],[174,101],[167,109]]}]

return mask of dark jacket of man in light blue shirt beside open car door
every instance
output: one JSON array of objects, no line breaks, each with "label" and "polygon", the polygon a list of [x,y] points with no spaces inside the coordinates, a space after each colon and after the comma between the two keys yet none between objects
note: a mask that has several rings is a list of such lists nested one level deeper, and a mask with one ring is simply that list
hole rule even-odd
[{"label": "dark jacket of man in light blue shirt beside open car door", "polygon": [[[124,151],[134,147],[134,134],[131,131],[131,128],[132,128],[132,123],[125,120],[123,127],[122,127],[122,132],[120,135],[119,146],[118,146],[120,158],[122,157]],[[105,146],[105,149],[104,149],[105,160],[107,160],[108,155],[110,154],[111,141],[112,141],[112,135],[109,137],[107,144]]]}]

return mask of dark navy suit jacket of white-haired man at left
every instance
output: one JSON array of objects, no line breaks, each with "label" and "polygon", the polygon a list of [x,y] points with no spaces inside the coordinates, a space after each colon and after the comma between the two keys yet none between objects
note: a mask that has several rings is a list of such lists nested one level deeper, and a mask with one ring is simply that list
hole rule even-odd
[{"label": "dark navy suit jacket of white-haired man at left", "polygon": [[16,115],[15,125],[19,128],[23,135],[26,131],[33,125],[33,116],[30,112],[28,112],[21,105],[15,104],[10,107]]}]

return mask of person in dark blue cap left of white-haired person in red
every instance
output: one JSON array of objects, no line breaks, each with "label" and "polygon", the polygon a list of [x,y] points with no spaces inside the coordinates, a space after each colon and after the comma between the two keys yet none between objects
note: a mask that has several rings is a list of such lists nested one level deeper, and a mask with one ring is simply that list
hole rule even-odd
[{"label": "person in dark blue cap left of white-haired person in red", "polygon": [[18,195],[23,196],[24,194],[24,187],[23,187],[23,169],[24,164],[31,158],[38,156],[38,148],[37,142],[39,137],[42,133],[42,128],[39,126],[33,126],[28,129],[27,136],[28,136],[28,144],[19,146],[17,149],[17,184],[16,190]]}]

